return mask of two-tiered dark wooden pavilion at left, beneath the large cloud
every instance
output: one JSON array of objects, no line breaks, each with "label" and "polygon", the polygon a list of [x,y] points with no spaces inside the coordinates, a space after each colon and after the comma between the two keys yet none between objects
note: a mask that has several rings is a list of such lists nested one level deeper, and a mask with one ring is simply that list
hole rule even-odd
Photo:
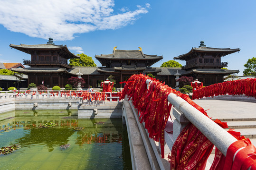
[{"label": "two-tiered dark wooden pavilion at left, beneath the large cloud", "polygon": [[44,81],[47,87],[55,85],[64,87],[67,78],[71,76],[67,71],[67,69],[71,69],[67,60],[79,58],[79,56],[68,51],[66,45],[55,45],[52,38],[49,38],[46,44],[10,44],[10,47],[26,52],[31,56],[31,59],[23,59],[23,64],[30,66],[30,68],[11,69],[28,75],[28,84],[35,83],[40,85]]}]

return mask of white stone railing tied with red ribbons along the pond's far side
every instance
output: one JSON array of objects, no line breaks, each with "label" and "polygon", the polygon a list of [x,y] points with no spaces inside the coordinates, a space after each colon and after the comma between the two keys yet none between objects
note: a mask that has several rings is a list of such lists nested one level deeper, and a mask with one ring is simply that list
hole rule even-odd
[{"label": "white stone railing tied with red ribbons along the pond's far side", "polygon": [[[73,94],[75,92],[75,95]],[[0,100],[11,99],[11,98],[28,98],[28,99],[44,99],[44,98],[69,98],[69,99],[77,99],[80,97],[77,95],[78,93],[82,93],[83,91],[2,91],[0,92]],[[91,92],[94,94],[96,92]],[[118,92],[106,92],[109,96],[105,96],[105,101],[112,102],[113,99],[117,99],[119,101],[119,96],[113,96],[112,94]],[[73,95],[72,95],[73,94]],[[82,102],[83,100],[81,100]]]}]

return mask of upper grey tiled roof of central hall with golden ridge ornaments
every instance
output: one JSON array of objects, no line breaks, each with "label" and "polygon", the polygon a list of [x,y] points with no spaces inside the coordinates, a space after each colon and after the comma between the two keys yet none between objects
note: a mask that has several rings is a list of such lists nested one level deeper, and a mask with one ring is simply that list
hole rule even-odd
[{"label": "upper grey tiled roof of central hall with golden ridge ornaments", "polygon": [[162,59],[162,56],[157,55],[147,55],[143,54],[139,50],[116,50],[113,51],[113,54],[101,54],[95,55],[96,59],[139,59],[139,60],[148,60],[148,59]]}]

